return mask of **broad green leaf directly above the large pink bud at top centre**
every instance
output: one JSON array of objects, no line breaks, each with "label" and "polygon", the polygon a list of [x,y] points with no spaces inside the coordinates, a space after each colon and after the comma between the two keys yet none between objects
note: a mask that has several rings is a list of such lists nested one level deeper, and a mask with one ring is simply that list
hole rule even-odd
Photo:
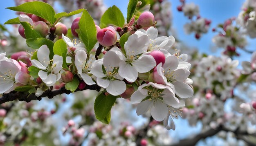
[{"label": "broad green leaf directly above the large pink bud at top centre", "polygon": [[102,15],[101,22],[99,27],[105,28],[109,25],[114,25],[116,27],[123,27],[124,26],[124,15],[120,11],[117,6],[112,6],[107,9],[107,11]]}]

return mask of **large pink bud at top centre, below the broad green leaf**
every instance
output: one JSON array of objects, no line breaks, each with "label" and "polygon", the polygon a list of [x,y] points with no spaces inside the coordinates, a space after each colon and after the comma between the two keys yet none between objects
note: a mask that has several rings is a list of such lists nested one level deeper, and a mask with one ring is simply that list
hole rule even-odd
[{"label": "large pink bud at top centre, below the broad green leaf", "polygon": [[112,46],[117,42],[117,33],[113,27],[106,27],[97,33],[97,40],[102,46]]}]

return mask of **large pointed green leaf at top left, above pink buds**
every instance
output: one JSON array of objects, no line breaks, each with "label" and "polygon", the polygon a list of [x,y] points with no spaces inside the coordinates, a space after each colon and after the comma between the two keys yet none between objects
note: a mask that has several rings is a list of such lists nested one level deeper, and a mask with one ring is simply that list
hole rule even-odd
[{"label": "large pointed green leaf at top left, above pink buds", "polygon": [[26,2],[17,7],[8,7],[7,9],[37,15],[45,20],[48,20],[50,24],[53,24],[56,20],[54,18],[55,11],[53,7],[45,2]]}]

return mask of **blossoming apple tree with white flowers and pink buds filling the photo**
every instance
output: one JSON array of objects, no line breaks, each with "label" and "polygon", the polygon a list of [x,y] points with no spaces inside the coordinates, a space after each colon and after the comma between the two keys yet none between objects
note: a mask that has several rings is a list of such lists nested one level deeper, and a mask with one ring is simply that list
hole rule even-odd
[{"label": "blossoming apple tree with white flowers and pink buds filling the photo", "polygon": [[[7,8],[19,15],[4,24],[19,25],[29,51],[0,54],[0,144],[67,145],[58,138],[54,120],[65,122],[62,135],[69,133],[68,144],[75,146],[195,145],[225,132],[241,144],[256,144],[255,97],[243,100],[234,94],[239,88],[249,90],[256,80],[256,52],[245,49],[246,35],[256,37],[255,0],[245,2],[237,19],[218,26],[213,42],[225,49],[221,57],[186,51],[168,35],[171,13],[165,0],[130,0],[126,18],[115,5],[105,11],[100,0],[61,3],[70,13],[56,13],[53,1],[43,1],[17,0],[16,7]],[[195,4],[180,2],[177,10],[191,20],[184,25],[186,33],[195,32],[200,39],[211,20],[201,18]],[[77,14],[81,17],[74,18]],[[233,26],[234,20],[239,26]],[[242,71],[238,60],[232,60],[236,48],[252,53]],[[42,100],[45,97],[50,100]],[[223,109],[229,99],[237,105],[232,112]],[[45,107],[36,108],[43,102]],[[71,108],[63,110],[63,102]],[[131,116],[133,108],[148,122],[142,127],[127,121],[115,126],[115,121]],[[62,116],[54,119],[57,113]],[[79,122],[74,120],[77,115]],[[111,115],[117,118],[114,122]],[[179,117],[191,126],[200,122],[202,132],[175,144],[166,135],[175,130],[173,119]]]}]

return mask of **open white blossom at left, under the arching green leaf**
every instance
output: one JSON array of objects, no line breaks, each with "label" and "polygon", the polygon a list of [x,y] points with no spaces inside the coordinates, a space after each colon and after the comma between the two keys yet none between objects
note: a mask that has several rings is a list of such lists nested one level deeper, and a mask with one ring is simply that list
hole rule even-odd
[{"label": "open white blossom at left, under the arching green leaf", "polygon": [[38,60],[31,60],[33,66],[36,66],[40,71],[38,76],[47,85],[52,86],[61,78],[59,73],[62,69],[63,58],[59,55],[54,55],[53,60],[49,59],[49,49],[46,45],[40,46],[37,51]]}]

